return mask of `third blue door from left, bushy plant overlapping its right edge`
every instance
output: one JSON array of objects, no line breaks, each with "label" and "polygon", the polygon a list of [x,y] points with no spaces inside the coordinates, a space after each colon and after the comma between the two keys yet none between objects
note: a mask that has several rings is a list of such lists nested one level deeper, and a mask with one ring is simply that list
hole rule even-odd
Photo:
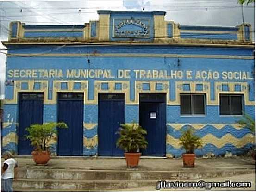
[{"label": "third blue door from left, bushy plant overlapping its right edge", "polygon": [[116,147],[119,137],[116,131],[125,123],[125,94],[99,94],[99,155],[123,156],[124,151]]}]

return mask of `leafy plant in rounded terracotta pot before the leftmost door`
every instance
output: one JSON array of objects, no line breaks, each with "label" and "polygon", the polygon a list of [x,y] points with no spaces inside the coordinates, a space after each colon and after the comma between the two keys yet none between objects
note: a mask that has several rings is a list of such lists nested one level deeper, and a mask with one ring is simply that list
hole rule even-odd
[{"label": "leafy plant in rounded terracotta pot before the leftmost door", "polygon": [[54,136],[57,134],[55,127],[68,128],[65,123],[44,123],[31,124],[27,127],[28,135],[25,137],[30,140],[34,147],[31,155],[37,164],[46,164],[50,159],[50,141],[55,140]]}]

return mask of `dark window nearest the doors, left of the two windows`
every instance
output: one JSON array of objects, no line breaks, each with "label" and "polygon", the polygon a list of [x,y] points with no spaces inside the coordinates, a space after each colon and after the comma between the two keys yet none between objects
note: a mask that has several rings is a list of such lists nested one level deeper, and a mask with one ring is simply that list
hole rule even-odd
[{"label": "dark window nearest the doors, left of the two windows", "polygon": [[204,115],[205,94],[181,94],[181,115]]}]

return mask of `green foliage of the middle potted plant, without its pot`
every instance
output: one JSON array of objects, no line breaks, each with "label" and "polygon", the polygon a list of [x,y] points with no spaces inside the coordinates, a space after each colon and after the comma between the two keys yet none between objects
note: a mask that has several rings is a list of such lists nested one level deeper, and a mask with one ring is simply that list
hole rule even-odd
[{"label": "green foliage of the middle potted plant, without its pot", "polygon": [[119,134],[119,139],[116,143],[117,147],[124,149],[125,152],[137,152],[138,149],[145,149],[148,146],[145,138],[147,131],[135,122],[121,124],[117,134]]}]

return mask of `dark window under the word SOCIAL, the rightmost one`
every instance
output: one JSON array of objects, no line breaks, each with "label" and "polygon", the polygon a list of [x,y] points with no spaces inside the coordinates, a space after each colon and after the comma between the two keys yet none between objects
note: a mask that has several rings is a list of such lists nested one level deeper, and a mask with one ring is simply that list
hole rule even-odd
[{"label": "dark window under the word SOCIAL, the rightmost one", "polygon": [[244,95],[219,95],[220,115],[242,115]]}]

